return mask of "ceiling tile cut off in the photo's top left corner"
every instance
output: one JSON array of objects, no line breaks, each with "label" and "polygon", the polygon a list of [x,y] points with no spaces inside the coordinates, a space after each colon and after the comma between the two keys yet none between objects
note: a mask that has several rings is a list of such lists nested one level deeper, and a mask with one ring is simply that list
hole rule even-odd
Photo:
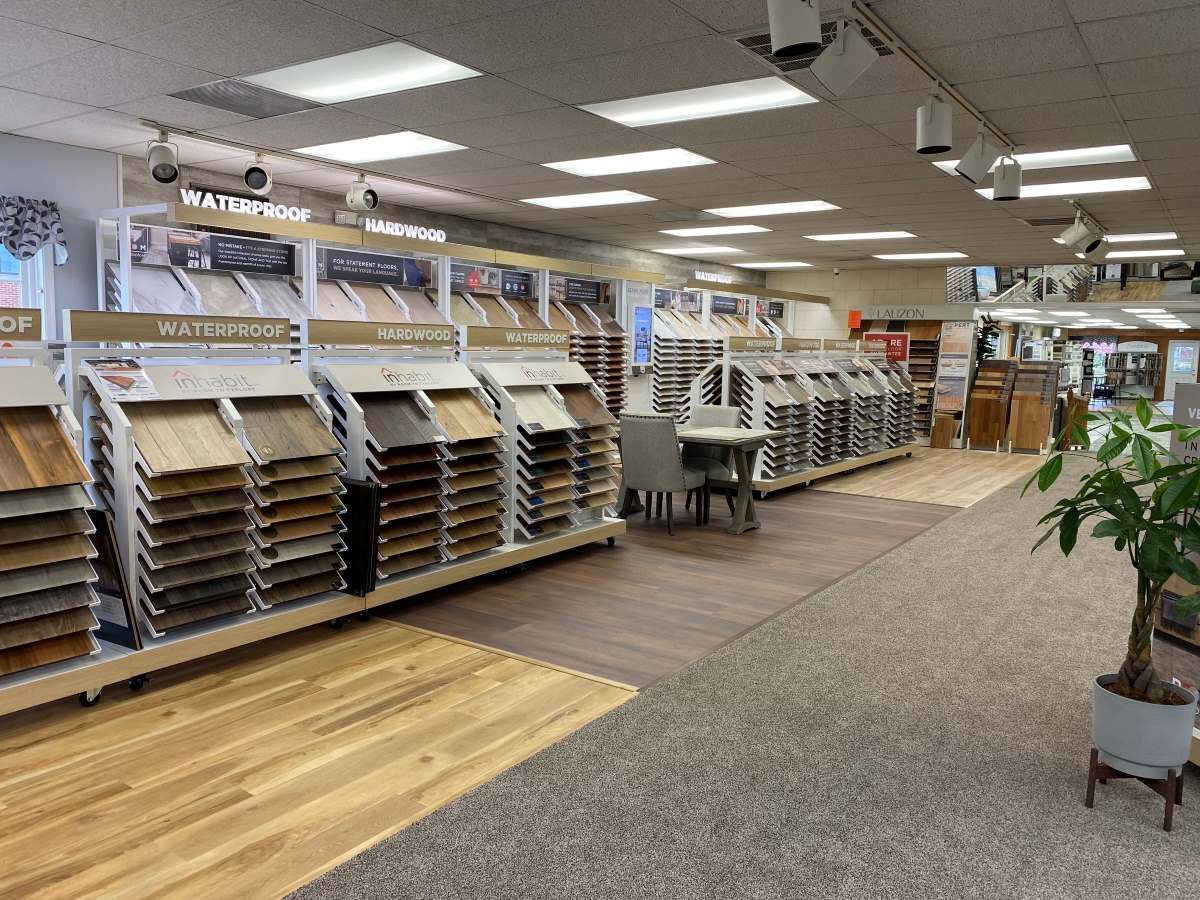
[{"label": "ceiling tile cut off in the photo's top left corner", "polygon": [[0,14],[112,42],[168,22],[228,6],[230,0],[4,0]]}]

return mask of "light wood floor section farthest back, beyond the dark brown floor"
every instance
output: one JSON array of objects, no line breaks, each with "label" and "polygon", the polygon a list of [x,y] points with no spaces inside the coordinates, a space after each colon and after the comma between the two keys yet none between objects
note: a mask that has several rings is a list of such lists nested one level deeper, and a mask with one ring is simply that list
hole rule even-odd
[{"label": "light wood floor section farthest back, beyond the dark brown floor", "polygon": [[918,448],[911,458],[892,460],[846,475],[823,479],[814,490],[883,497],[892,500],[972,506],[1010,481],[1028,475],[1045,457],[984,450]]}]

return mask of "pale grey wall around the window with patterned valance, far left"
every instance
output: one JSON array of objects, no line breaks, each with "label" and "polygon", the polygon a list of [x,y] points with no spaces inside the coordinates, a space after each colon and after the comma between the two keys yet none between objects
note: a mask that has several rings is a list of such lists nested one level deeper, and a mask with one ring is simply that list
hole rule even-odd
[{"label": "pale grey wall around the window with patterned valance, far left", "polygon": [[[60,310],[95,310],[96,216],[120,205],[118,157],[0,134],[0,194],[59,204],[71,258],[54,270],[55,301]],[[53,334],[61,334],[61,323],[54,323]]]}]

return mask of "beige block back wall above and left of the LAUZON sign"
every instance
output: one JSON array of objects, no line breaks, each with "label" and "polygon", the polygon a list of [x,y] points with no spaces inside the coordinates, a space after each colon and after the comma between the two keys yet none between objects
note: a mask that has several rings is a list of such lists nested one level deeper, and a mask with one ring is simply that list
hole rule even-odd
[{"label": "beige block back wall above and left of the LAUZON sign", "polygon": [[797,337],[850,336],[847,313],[866,306],[926,306],[946,302],[946,266],[842,269],[769,272],[767,287],[828,296],[829,306],[792,304],[792,334]]}]

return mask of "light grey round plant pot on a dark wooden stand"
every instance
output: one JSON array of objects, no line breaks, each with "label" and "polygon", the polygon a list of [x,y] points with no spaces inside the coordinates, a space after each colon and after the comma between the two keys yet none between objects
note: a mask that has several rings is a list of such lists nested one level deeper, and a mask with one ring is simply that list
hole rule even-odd
[{"label": "light grey round plant pot on a dark wooden stand", "polygon": [[1092,742],[1100,762],[1140,778],[1164,779],[1188,761],[1196,697],[1176,684],[1169,691],[1189,702],[1178,706],[1146,703],[1105,689],[1117,680],[1100,676],[1092,684]]}]

